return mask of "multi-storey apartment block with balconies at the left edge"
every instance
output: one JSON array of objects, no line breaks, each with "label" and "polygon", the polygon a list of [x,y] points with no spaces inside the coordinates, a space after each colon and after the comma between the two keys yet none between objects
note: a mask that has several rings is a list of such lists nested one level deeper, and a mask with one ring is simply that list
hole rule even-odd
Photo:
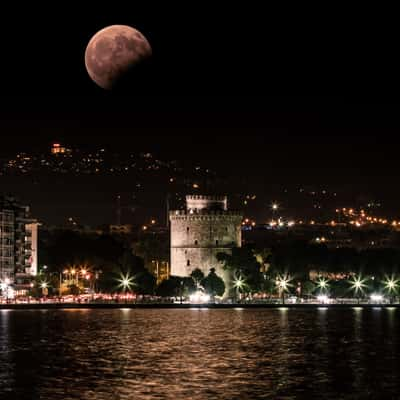
[{"label": "multi-storey apartment block with balconies at the left edge", "polygon": [[0,282],[29,288],[38,267],[38,223],[29,207],[0,196]]}]

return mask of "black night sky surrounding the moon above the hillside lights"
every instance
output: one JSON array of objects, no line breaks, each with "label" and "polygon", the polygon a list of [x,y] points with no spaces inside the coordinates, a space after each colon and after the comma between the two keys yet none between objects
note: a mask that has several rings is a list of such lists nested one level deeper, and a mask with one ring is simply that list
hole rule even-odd
[{"label": "black night sky surrounding the moon above the hillside lights", "polygon": [[[207,161],[255,183],[360,186],[395,203],[400,85],[389,28],[372,40],[291,11],[11,9],[0,24],[0,156],[54,140],[108,145]],[[110,24],[139,29],[154,54],[115,92],[84,66],[87,42]]]}]

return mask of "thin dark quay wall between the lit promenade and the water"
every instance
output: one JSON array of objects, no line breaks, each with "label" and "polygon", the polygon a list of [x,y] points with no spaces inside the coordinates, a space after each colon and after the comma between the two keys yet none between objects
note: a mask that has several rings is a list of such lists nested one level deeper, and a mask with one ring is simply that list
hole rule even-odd
[{"label": "thin dark quay wall between the lit promenade and the water", "polygon": [[0,310],[62,310],[62,309],[315,309],[315,308],[400,308],[400,304],[162,304],[162,303],[31,303],[0,304]]}]

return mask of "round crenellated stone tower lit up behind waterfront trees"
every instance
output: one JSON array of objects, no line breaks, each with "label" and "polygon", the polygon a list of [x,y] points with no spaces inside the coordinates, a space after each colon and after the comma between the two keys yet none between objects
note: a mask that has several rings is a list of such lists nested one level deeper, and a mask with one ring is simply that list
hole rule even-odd
[{"label": "round crenellated stone tower lit up behind waterfront trees", "polygon": [[188,276],[215,268],[224,276],[217,254],[241,246],[242,215],[229,211],[226,196],[186,196],[186,209],[170,212],[171,275]]}]

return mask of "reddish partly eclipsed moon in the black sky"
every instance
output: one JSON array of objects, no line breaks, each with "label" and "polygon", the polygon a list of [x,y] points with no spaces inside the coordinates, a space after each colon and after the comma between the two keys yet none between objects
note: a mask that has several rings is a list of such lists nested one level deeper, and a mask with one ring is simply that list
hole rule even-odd
[{"label": "reddish partly eclipsed moon in the black sky", "polygon": [[85,52],[86,70],[97,85],[110,90],[151,54],[149,42],[137,29],[112,25],[90,40]]}]

